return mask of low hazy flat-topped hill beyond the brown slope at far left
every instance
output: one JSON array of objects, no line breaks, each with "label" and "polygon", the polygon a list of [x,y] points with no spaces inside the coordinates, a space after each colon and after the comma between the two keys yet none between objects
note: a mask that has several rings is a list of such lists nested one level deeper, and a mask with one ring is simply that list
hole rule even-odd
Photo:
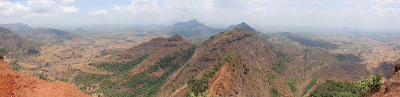
[{"label": "low hazy flat-topped hill beyond the brown slope at far left", "polygon": [[70,33],[51,28],[31,29],[31,30],[18,31],[16,33],[21,35],[22,37],[27,37],[32,39],[53,39],[53,38],[70,39],[73,37],[79,37],[79,35],[75,33]]}]

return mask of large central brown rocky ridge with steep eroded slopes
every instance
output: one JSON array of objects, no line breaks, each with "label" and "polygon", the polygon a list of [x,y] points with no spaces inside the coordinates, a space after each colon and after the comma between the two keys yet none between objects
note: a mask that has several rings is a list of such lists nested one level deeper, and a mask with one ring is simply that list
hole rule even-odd
[{"label": "large central brown rocky ridge with steep eroded slopes", "polygon": [[268,97],[277,95],[276,89],[290,92],[286,81],[276,83],[276,89],[269,84],[267,75],[274,73],[268,68],[277,61],[277,55],[268,45],[252,31],[239,28],[213,35],[196,48],[187,66],[172,74],[156,96],[182,97],[206,90],[223,97]]}]

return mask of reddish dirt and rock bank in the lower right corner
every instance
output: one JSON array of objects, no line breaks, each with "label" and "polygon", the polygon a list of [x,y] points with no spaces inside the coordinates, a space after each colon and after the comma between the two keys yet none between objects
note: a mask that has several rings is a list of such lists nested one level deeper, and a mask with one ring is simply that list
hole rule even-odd
[{"label": "reddish dirt and rock bank in the lower right corner", "polygon": [[399,97],[400,96],[400,60],[394,65],[394,75],[391,79],[385,81],[380,90],[372,97]]}]

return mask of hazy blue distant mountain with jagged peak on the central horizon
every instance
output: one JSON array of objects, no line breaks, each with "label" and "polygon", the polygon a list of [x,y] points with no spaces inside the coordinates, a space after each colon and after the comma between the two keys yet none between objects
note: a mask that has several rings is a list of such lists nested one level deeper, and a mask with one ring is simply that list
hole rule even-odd
[{"label": "hazy blue distant mountain with jagged peak on the central horizon", "polygon": [[187,22],[175,23],[169,29],[172,30],[170,34],[178,34],[182,35],[182,37],[190,37],[201,33],[215,33],[222,31],[222,29],[214,29],[199,23],[196,19]]}]

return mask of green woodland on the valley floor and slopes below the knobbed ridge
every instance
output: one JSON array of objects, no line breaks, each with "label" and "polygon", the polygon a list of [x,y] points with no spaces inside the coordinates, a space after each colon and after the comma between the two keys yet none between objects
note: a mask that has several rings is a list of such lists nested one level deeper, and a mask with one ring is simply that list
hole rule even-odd
[{"label": "green woodland on the valley floor and slopes below the knobbed ridge", "polygon": [[[74,82],[78,86],[83,86],[80,89],[87,94],[104,93],[107,97],[153,97],[164,85],[170,74],[184,66],[186,61],[192,57],[195,48],[196,46],[192,46],[188,50],[177,50],[172,55],[167,55],[154,63],[150,67],[151,69],[133,76],[129,73],[130,70],[150,56],[149,54],[122,64],[90,63],[90,65],[115,73],[111,75],[82,74],[76,76]],[[160,68],[165,70],[162,76],[149,75],[152,72],[159,72],[158,69]],[[94,91],[84,90],[86,87],[93,87],[96,84],[98,84],[99,89]]]}]

